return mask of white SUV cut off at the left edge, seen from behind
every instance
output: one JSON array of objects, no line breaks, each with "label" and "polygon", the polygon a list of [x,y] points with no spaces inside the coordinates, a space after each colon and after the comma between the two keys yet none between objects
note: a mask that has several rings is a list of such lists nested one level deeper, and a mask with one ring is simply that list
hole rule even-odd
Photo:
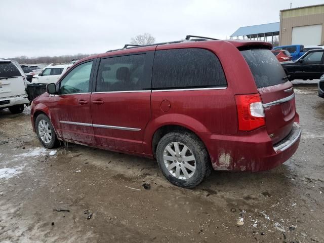
[{"label": "white SUV cut off at the left edge, seen from behind", "polygon": [[26,76],[13,61],[0,59],[0,109],[9,108],[11,113],[21,113],[28,104]]}]

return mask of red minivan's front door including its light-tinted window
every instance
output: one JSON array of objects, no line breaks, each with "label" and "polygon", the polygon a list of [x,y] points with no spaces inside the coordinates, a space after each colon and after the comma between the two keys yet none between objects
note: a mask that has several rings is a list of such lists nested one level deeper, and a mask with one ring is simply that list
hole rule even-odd
[{"label": "red minivan's front door including its light-tinted window", "polygon": [[59,84],[52,102],[51,119],[63,139],[84,144],[96,144],[90,112],[90,89],[94,61],[81,63],[67,73]]}]

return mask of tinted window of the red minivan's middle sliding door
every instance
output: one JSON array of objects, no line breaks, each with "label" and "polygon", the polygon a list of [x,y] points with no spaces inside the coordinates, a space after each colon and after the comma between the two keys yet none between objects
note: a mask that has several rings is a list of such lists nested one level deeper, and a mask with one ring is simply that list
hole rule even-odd
[{"label": "tinted window of the red minivan's middle sliding door", "polygon": [[110,57],[100,61],[96,92],[149,89],[144,77],[145,54]]}]

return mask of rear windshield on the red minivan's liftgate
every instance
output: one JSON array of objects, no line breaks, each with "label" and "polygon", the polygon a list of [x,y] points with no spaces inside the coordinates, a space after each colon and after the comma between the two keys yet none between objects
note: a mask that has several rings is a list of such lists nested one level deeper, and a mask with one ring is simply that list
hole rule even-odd
[{"label": "rear windshield on the red minivan's liftgate", "polygon": [[241,51],[253,74],[258,88],[278,85],[286,82],[286,73],[279,61],[266,49]]}]

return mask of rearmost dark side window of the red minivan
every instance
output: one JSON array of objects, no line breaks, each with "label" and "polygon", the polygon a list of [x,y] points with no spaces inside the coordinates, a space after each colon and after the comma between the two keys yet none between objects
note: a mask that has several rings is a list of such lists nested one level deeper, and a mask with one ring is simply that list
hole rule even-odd
[{"label": "rearmost dark side window of the red minivan", "polygon": [[208,50],[185,48],[155,52],[152,89],[213,88],[226,84],[219,59]]}]

